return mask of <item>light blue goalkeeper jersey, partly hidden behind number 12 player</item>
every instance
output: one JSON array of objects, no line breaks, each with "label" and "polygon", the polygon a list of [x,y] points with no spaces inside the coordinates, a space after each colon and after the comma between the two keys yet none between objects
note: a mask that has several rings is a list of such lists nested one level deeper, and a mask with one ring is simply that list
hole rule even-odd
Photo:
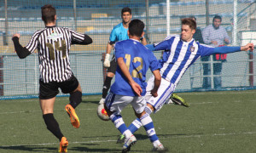
[{"label": "light blue goalkeeper jersey, partly hidden behind number 12 player", "polygon": [[119,23],[117,26],[114,26],[109,37],[109,43],[113,44],[115,42],[129,39],[127,31],[128,28],[126,29],[123,26],[123,23]]}]

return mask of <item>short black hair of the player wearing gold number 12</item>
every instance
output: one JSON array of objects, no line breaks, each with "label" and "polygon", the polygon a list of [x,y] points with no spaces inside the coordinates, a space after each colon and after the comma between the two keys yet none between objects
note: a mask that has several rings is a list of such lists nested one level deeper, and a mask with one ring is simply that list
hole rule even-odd
[{"label": "short black hair of the player wearing gold number 12", "polygon": [[128,31],[131,36],[142,37],[145,24],[142,20],[131,20]]}]

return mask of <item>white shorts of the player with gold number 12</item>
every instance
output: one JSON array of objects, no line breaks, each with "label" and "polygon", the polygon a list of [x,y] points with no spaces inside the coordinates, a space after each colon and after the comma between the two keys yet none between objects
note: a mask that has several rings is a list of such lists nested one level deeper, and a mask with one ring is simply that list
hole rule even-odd
[{"label": "white shorts of the player with gold number 12", "polygon": [[110,92],[105,100],[105,105],[109,111],[116,111],[117,114],[120,114],[121,111],[125,108],[126,105],[131,104],[134,111],[137,114],[140,114],[144,111],[144,108],[147,105],[146,99],[144,96],[124,96],[119,94],[113,94]]}]

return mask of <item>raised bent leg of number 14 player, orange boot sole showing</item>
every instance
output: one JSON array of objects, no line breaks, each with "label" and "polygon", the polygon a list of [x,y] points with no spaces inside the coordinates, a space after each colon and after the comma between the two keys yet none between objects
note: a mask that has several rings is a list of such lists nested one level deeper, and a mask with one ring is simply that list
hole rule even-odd
[{"label": "raised bent leg of number 14 player, orange boot sole showing", "polygon": [[73,127],[79,128],[79,116],[74,110],[82,101],[82,88],[79,81],[76,77],[72,76],[66,82],[60,82],[59,86],[62,93],[70,94],[69,104],[65,106],[65,110],[67,111],[67,115]]}]

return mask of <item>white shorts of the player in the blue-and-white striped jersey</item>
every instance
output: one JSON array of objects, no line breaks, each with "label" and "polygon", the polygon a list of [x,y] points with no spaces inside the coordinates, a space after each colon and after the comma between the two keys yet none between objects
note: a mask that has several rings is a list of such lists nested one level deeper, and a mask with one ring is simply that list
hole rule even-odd
[{"label": "white shorts of the player in the blue-and-white striped jersey", "polygon": [[166,79],[161,78],[160,87],[158,88],[157,97],[153,97],[151,94],[151,90],[154,88],[154,76],[150,77],[148,80],[148,86],[146,88],[147,93],[145,95],[145,99],[147,100],[147,103],[154,106],[154,113],[157,111],[160,111],[162,106],[166,103],[166,100],[168,100],[174,89],[175,85],[171,82],[166,81]]}]

